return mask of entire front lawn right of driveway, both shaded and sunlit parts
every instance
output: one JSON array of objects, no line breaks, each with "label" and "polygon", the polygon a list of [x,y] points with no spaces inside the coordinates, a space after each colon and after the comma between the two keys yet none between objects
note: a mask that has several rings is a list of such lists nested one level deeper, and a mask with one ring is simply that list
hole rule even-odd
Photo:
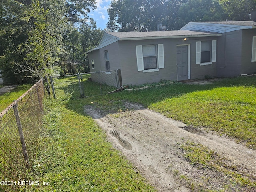
[{"label": "entire front lawn right of driveway, both shaded and sunlit parts", "polygon": [[85,101],[113,113],[122,109],[120,100],[138,102],[169,118],[225,134],[256,149],[255,77],[227,78],[208,85],[162,83],[166,85],[95,96]]}]

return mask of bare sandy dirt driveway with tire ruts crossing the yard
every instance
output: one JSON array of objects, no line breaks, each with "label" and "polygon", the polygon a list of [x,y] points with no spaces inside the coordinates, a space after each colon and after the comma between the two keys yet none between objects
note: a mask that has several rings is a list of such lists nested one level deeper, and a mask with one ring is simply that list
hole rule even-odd
[{"label": "bare sandy dirt driveway with tire ruts crossing the yard", "polygon": [[127,111],[116,114],[103,114],[94,106],[85,106],[85,112],[106,131],[113,146],[159,191],[190,191],[181,176],[204,189],[222,190],[223,184],[228,182],[224,174],[191,166],[179,147],[186,140],[207,146],[226,157],[228,164],[256,177],[255,150],[176,122],[138,104],[124,102],[124,106]]}]

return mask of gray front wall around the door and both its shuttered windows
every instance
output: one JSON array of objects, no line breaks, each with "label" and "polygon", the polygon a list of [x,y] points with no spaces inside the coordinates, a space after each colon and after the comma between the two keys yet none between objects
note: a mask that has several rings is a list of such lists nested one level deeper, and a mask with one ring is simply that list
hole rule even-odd
[{"label": "gray front wall around the door and both its shuttered windows", "polygon": [[[160,80],[177,80],[177,45],[190,44],[190,74],[191,79],[203,79],[205,75],[216,76],[216,62],[211,65],[200,66],[196,63],[196,41],[212,41],[218,37],[169,38],[158,40],[120,41],[120,63],[123,84],[144,84],[159,82]],[[164,44],[164,68],[158,72],[143,73],[137,70],[136,45]]]}]

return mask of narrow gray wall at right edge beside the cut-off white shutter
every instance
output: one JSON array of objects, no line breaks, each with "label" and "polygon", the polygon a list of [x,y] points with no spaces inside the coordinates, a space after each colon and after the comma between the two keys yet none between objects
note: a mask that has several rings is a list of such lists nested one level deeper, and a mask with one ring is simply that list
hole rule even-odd
[{"label": "narrow gray wall at right edge beside the cut-off white shutter", "polygon": [[252,38],[256,29],[242,30],[242,57],[240,74],[255,74],[256,62],[252,62]]}]

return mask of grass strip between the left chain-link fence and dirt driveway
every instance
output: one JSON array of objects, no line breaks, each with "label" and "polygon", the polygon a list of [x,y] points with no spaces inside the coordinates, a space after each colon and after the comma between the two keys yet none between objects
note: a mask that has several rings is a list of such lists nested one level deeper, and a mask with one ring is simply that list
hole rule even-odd
[{"label": "grass strip between the left chain-link fence and dirt driveway", "polygon": [[44,100],[44,133],[27,191],[155,191],[83,112],[84,99]]}]

